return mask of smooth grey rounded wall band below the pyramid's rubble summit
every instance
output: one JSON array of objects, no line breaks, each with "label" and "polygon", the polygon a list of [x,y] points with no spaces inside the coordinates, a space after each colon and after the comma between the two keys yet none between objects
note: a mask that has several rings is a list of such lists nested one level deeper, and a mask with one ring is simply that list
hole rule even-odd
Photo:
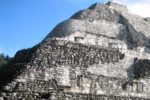
[{"label": "smooth grey rounded wall band below the pyramid's rubble summit", "polygon": [[58,24],[55,29],[47,36],[64,37],[76,31],[101,34],[112,38],[117,38],[121,32],[125,32],[125,27],[121,24],[114,24],[107,21],[89,22],[70,19]]}]

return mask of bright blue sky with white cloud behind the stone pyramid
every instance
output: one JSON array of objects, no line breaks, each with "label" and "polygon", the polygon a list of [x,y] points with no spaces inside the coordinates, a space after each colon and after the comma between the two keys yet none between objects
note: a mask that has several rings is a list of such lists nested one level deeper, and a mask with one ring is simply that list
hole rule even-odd
[{"label": "bright blue sky with white cloud behind the stone pyramid", "polygon": [[[93,3],[108,0],[0,0],[0,53],[14,56],[44,39],[61,21]],[[150,17],[150,0],[113,0]]]}]

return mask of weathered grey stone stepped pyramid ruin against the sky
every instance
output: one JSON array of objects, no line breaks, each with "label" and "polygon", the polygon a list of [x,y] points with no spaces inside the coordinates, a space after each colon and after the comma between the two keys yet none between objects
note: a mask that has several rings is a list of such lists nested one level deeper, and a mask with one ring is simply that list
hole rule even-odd
[{"label": "weathered grey stone stepped pyramid ruin against the sky", "polygon": [[0,71],[0,100],[150,100],[150,18],[114,2],[75,13]]}]

